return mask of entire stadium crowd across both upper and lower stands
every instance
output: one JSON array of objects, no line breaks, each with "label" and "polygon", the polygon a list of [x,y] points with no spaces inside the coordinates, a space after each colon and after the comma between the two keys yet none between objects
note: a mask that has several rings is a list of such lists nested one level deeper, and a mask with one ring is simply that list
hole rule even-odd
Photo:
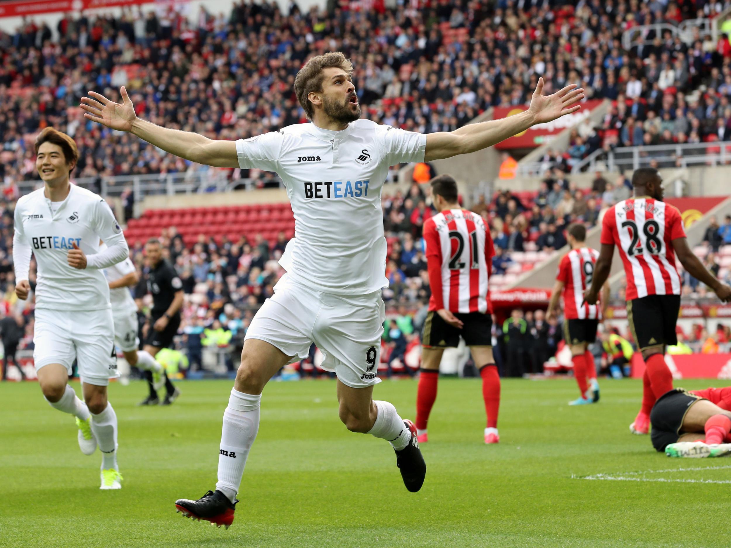
[{"label": "entire stadium crowd across both upper and lower stands", "polygon": [[[292,82],[308,56],[327,50],[353,59],[366,117],[418,132],[456,129],[492,106],[523,104],[539,76],[545,77],[547,93],[577,83],[589,98],[612,99],[616,106],[601,127],[583,126],[566,153],[550,151],[542,159],[547,174],[537,193],[499,191],[474,205],[491,224],[493,273],[501,274],[512,252],[561,248],[567,224],[594,226],[602,210],[629,197],[624,176],[607,180],[597,173],[591,189],[571,182],[572,165],[596,148],[660,142],[668,131],[675,140],[702,140],[714,132],[727,140],[731,132],[721,130],[731,127],[727,42],[699,36],[688,47],[656,37],[653,45],[631,51],[620,42],[632,26],[713,16],[727,4],[415,0],[393,9],[375,2],[364,11],[352,2],[303,12],[292,2],[281,12],[276,4],[242,1],[230,14],[201,8],[193,19],[167,7],[144,16],[124,9],[121,18],[67,15],[55,33],[28,21],[13,35],[0,34],[0,280],[6,312],[23,310],[12,292],[12,208],[15,183],[37,178],[31,145],[39,129],[50,125],[75,138],[76,177],[213,169],[84,120],[77,105],[89,89],[114,98],[126,85],[138,115],[218,139],[305,121]],[[701,84],[703,94],[690,93]],[[268,178],[256,170],[229,170],[228,176]],[[397,329],[388,325],[386,338],[401,354],[404,341],[396,332],[410,343],[419,326],[419,315],[412,320],[404,311],[419,308],[430,294],[421,228],[433,209],[428,190],[414,184],[406,194],[385,190],[383,210],[390,281],[384,298],[399,311]],[[240,342],[281,275],[276,259],[287,236],[270,245],[261,237],[230,241],[201,235],[186,248],[169,227],[160,238],[186,293],[194,295],[181,327],[181,342],[194,349],[192,357],[206,343]],[[132,258],[143,272],[139,243]],[[690,281],[686,285],[703,291]],[[143,292],[140,288],[140,296]],[[26,323],[27,340],[32,320]]]}]

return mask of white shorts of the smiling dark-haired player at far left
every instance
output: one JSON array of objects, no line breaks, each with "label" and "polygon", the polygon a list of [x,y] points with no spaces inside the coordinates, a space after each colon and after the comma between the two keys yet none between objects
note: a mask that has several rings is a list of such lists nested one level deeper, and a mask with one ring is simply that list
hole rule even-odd
[{"label": "white shorts of the smiling dark-haired player at far left", "polygon": [[95,311],[36,309],[33,361],[36,370],[50,363],[72,373],[77,360],[83,382],[105,387],[118,376],[114,321],[110,308]]}]

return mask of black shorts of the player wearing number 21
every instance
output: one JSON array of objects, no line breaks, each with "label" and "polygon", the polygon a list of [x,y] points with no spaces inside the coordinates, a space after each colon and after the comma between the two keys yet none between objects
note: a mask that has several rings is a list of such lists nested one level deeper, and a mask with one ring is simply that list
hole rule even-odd
[{"label": "black shorts of the player wearing number 21", "polygon": [[461,335],[467,346],[493,346],[493,319],[490,314],[470,312],[457,313],[455,316],[462,320],[462,329],[452,327],[438,313],[430,311],[422,330],[422,344],[437,349],[455,347]]}]

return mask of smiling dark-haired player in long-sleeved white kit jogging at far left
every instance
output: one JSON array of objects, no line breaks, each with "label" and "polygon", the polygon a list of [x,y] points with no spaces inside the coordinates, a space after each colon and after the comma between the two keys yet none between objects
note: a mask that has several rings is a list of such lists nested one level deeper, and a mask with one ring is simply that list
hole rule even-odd
[{"label": "smiling dark-haired player in long-sleeved white kit jogging at far left", "polygon": [[[100,269],[124,260],[129,249],[107,202],[69,183],[78,159],[74,140],[49,127],[38,135],[35,151],[45,185],[15,206],[15,292],[28,298],[33,253],[38,265],[33,359],[41,390],[51,407],[76,417],[84,454],[99,445],[101,489],[119,489],[117,416],[107,401],[107,384],[117,376],[114,326]],[[100,239],[108,244],[103,251]],[[86,403],[67,384],[75,359]]]}]

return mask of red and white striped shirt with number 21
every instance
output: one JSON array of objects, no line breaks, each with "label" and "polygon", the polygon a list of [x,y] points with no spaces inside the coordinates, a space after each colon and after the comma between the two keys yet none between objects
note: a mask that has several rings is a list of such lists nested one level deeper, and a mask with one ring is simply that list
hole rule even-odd
[{"label": "red and white striped shirt with number 21", "polygon": [[444,210],[424,222],[424,241],[429,310],[491,313],[488,277],[495,248],[482,217],[463,209]]}]

